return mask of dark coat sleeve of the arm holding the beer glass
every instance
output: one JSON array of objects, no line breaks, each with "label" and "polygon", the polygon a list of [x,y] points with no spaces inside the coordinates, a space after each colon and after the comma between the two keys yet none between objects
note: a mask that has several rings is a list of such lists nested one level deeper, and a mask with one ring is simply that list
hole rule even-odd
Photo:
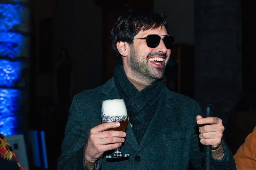
[{"label": "dark coat sleeve of the arm holding the beer glass", "polygon": [[[85,122],[76,96],[70,106],[65,136],[61,146],[61,155],[58,159],[57,169],[88,169],[84,166],[85,145],[88,140]],[[88,130],[90,131],[90,129]]]}]

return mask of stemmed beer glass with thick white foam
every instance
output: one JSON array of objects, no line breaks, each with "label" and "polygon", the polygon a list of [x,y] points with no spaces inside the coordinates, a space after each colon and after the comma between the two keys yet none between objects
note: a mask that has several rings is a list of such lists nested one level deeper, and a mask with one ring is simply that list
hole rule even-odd
[{"label": "stemmed beer glass with thick white foam", "polygon": [[[120,122],[117,128],[107,130],[125,131],[127,126],[127,110],[123,99],[104,100],[101,107],[101,120],[105,122]],[[119,148],[116,148],[114,153],[107,155],[107,158],[122,158],[129,154],[122,153]]]}]

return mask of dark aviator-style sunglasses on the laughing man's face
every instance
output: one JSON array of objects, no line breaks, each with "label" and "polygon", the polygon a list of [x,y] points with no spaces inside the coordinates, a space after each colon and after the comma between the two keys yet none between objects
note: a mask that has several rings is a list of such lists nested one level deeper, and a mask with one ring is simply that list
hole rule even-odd
[{"label": "dark aviator-style sunglasses on the laughing man's face", "polygon": [[134,38],[133,40],[136,40],[136,39],[146,40],[147,46],[150,48],[156,48],[159,45],[160,41],[163,40],[165,47],[167,49],[171,49],[175,41],[174,37],[169,35],[163,35],[163,36],[165,37],[161,38],[159,35],[151,34],[145,38]]}]

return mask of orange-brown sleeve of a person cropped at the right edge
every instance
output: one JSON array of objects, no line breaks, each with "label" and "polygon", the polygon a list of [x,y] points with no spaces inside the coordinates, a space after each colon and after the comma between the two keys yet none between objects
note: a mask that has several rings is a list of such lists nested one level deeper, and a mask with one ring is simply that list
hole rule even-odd
[{"label": "orange-brown sleeve of a person cropped at the right edge", "polygon": [[256,126],[245,138],[244,144],[237,150],[234,158],[238,170],[256,168]]}]

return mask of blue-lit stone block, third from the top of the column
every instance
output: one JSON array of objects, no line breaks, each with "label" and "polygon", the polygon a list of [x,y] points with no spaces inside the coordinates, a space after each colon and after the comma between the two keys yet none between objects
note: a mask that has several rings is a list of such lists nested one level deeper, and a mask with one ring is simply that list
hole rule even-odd
[{"label": "blue-lit stone block, third from the top of the column", "polygon": [[19,80],[21,74],[20,61],[0,60],[0,85],[12,87]]}]

